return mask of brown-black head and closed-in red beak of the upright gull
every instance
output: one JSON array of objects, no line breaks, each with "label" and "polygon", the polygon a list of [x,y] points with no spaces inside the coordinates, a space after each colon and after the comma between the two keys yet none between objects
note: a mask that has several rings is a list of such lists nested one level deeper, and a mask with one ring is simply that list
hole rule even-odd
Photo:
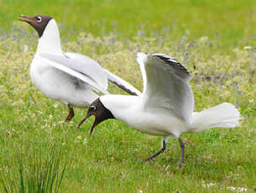
[{"label": "brown-black head and closed-in red beak of the upright gull", "polygon": [[50,19],[52,19],[47,15],[35,15],[33,17],[19,15],[19,17],[21,17],[18,19],[19,21],[27,22],[34,27],[34,29],[39,33],[39,38],[44,34],[44,29],[50,22]]}]

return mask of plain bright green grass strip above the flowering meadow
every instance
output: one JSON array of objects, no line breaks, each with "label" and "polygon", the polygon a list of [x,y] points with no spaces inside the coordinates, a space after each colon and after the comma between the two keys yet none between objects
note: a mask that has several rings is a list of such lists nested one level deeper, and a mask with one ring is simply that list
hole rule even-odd
[{"label": "plain bright green grass strip above the flowering meadow", "polygon": [[207,35],[222,42],[221,47],[248,44],[255,32],[255,0],[1,0],[0,23],[10,28],[18,14],[49,14],[71,29],[101,35],[118,31],[122,38],[136,35],[140,26],[146,34],[170,29],[173,39],[182,35]]}]

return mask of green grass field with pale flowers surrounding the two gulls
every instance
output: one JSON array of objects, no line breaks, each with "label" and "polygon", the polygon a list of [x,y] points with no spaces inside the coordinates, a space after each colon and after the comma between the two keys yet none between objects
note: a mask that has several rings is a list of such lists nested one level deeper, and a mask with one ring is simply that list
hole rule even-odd
[{"label": "green grass field with pale flowers surrounding the two gulls", "polygon": [[[0,192],[35,192],[40,183],[45,187],[40,192],[59,187],[60,192],[254,191],[255,1],[0,4]],[[90,56],[138,89],[142,80],[133,54],[172,55],[191,70],[196,111],[231,102],[243,119],[238,128],[182,135],[182,169],[177,167],[176,139],[168,141],[164,154],[144,163],[160,149],[160,137],[138,133],[117,120],[101,123],[89,136],[93,117],[76,128],[86,109],[76,109],[71,123],[64,123],[67,107],[33,86],[29,64],[38,38],[17,21],[20,13],[53,16],[60,23],[63,50]],[[109,91],[125,94],[112,84]]]}]

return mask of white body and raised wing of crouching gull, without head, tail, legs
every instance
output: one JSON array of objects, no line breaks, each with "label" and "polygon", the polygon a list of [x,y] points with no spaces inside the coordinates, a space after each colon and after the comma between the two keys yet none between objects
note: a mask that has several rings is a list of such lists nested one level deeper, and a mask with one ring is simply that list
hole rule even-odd
[{"label": "white body and raised wing of crouching gull, without head, tail, legs", "polygon": [[143,95],[102,96],[103,105],[114,117],[143,133],[179,138],[181,133],[190,132],[194,111],[190,73],[163,54],[138,53],[137,61],[144,80]]}]

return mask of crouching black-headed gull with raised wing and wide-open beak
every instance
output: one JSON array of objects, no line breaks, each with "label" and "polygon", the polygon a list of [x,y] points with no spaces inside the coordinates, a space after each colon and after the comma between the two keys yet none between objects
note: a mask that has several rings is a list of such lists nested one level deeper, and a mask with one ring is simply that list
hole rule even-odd
[{"label": "crouching black-headed gull with raised wing and wide-open beak", "polygon": [[144,81],[142,96],[105,95],[97,98],[81,121],[83,123],[87,117],[95,116],[90,133],[98,123],[117,118],[142,133],[162,136],[162,149],[146,161],[165,151],[167,138],[178,138],[181,167],[185,149],[180,139],[182,133],[201,132],[206,128],[234,128],[238,125],[238,109],[227,102],[194,112],[194,96],[189,85],[191,74],[172,57],[138,53],[137,61]]}]

